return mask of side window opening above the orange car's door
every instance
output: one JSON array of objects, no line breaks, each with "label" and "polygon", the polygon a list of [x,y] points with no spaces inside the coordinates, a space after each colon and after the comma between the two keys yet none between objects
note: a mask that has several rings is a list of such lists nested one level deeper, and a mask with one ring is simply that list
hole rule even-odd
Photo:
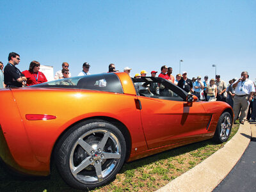
[{"label": "side window opening above the orange car's door", "polygon": [[132,80],[137,95],[164,100],[186,100],[187,93],[161,77],[141,77]]}]

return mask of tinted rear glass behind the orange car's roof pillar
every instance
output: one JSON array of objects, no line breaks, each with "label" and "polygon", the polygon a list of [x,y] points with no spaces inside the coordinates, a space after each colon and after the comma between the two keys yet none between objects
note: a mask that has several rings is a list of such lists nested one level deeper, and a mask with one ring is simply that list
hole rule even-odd
[{"label": "tinted rear glass behind the orange car's roof pillar", "polygon": [[68,88],[83,90],[99,90],[103,92],[124,93],[122,84],[116,74],[96,74],[90,76],[78,76],[65,79],[58,79],[30,87],[39,88]]}]

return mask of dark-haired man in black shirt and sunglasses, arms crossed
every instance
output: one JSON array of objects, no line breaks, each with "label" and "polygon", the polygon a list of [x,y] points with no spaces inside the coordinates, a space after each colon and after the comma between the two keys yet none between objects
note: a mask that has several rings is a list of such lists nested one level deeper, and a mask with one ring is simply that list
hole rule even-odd
[{"label": "dark-haired man in black shirt and sunglasses, arms crossed", "polygon": [[6,88],[22,87],[25,85],[27,78],[15,67],[20,62],[20,56],[16,52],[10,52],[8,56],[8,64],[4,67],[4,84]]}]

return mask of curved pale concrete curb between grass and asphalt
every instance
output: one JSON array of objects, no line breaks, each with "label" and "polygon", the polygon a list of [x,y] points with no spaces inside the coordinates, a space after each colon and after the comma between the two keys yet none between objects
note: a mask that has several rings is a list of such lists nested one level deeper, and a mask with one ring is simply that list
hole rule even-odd
[{"label": "curved pale concrete curb between grass and asphalt", "polygon": [[250,124],[248,122],[244,122],[244,125],[240,124],[236,135],[223,148],[163,188],[158,189],[157,192],[212,191],[239,161],[251,138]]}]

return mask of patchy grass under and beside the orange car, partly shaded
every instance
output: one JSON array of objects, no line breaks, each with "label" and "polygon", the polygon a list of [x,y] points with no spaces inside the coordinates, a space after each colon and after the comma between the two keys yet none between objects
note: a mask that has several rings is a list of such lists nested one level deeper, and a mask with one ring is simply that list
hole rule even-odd
[{"label": "patchy grass under and beside the orange car, partly shaded", "polygon": [[[230,138],[237,132],[239,124],[232,127]],[[125,163],[116,179],[107,186],[93,191],[156,191],[170,180],[196,166],[211,156],[225,143],[216,145],[212,140],[193,143]],[[17,177],[0,164],[0,191],[81,191],[70,188],[61,179],[56,168],[49,177]]]}]

